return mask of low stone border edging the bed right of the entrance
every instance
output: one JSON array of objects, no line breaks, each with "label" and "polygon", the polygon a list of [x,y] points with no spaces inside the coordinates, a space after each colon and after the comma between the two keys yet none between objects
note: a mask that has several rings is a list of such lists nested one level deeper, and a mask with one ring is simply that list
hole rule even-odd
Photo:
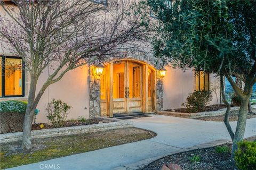
[{"label": "low stone border edging the bed right of the entrance", "polygon": [[[252,105],[252,108],[256,108],[256,105]],[[238,111],[239,107],[231,107],[230,111]],[[219,109],[218,111],[210,111],[210,112],[197,112],[197,113],[181,113],[181,112],[169,112],[169,111],[158,111],[159,115],[166,116],[175,116],[175,117],[183,117],[183,118],[199,118],[206,116],[219,116],[226,113],[226,108]]]}]

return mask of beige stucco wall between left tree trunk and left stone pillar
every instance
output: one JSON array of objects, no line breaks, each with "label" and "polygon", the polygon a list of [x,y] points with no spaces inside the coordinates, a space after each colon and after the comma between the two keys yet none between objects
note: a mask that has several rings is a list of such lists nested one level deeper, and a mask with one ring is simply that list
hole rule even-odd
[{"label": "beige stucco wall between left tree trunk and left stone pillar", "polygon": [[[77,119],[78,116],[89,118],[89,68],[87,66],[79,67],[75,70],[67,72],[64,77],[51,84],[44,92],[37,108],[40,113],[37,115],[37,123],[47,122],[45,114],[45,106],[53,98],[60,99],[72,106],[68,115],[68,120],[71,118]],[[38,88],[43,85],[48,77],[46,69],[41,77],[39,77]]]}]

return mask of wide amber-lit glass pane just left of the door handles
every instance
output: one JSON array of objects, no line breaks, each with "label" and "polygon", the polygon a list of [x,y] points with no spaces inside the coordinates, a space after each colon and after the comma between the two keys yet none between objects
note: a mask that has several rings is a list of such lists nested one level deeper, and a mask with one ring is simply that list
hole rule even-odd
[{"label": "wide amber-lit glass pane just left of the door handles", "polygon": [[124,62],[113,65],[113,98],[124,98]]}]

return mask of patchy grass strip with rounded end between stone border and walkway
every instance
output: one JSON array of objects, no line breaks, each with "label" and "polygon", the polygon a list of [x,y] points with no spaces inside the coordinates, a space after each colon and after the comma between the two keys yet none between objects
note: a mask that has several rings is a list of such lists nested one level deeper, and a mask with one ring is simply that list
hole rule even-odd
[{"label": "patchy grass strip with rounded end between stone border and walkway", "polygon": [[33,149],[29,153],[24,153],[20,149],[21,141],[1,143],[1,168],[26,165],[43,160],[123,145],[125,143],[153,138],[155,135],[153,132],[142,129],[125,128],[62,137],[32,139]]}]

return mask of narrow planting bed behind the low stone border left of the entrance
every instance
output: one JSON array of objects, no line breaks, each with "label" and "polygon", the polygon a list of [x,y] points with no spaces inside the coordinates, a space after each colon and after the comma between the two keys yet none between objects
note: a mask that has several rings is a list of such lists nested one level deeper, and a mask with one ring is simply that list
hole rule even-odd
[{"label": "narrow planting bed behind the low stone border left of the entrance", "polygon": [[[72,120],[72,121],[66,121],[63,125],[63,127],[70,127],[70,126],[81,126],[81,125],[89,125],[89,124],[98,124],[99,122],[101,123],[106,123],[110,121],[102,121],[98,119],[89,119],[85,121],[79,121],[79,120]],[[50,123],[43,123],[44,128],[43,129],[52,129],[55,128],[52,124]],[[32,125],[32,130],[41,130],[39,127],[40,124],[33,124]]]}]

